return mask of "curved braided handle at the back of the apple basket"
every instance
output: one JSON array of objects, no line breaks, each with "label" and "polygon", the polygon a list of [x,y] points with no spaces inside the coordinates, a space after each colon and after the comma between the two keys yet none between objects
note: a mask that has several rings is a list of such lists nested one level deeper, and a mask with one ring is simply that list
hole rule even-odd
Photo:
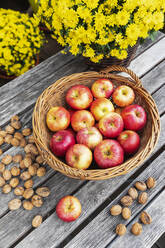
[{"label": "curved braided handle at the back of the apple basket", "polygon": [[127,73],[128,75],[131,76],[131,78],[133,79],[134,81],[134,84],[136,84],[137,86],[139,87],[142,87],[142,83],[141,83],[141,80],[139,79],[139,77],[133,72],[131,71],[130,69],[127,69],[123,66],[119,66],[119,65],[112,65],[112,66],[109,66],[103,70],[101,70],[99,73],[100,74],[106,74],[106,73],[109,73],[111,71],[120,71],[120,72],[125,72]]}]

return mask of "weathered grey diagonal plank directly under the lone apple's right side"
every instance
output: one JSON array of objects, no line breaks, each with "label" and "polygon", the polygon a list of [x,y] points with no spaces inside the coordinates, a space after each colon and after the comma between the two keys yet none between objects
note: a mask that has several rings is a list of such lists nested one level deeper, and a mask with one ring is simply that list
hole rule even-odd
[{"label": "weathered grey diagonal plank directly under the lone apple's right side", "polygon": [[[165,131],[165,115],[162,118],[162,134]],[[165,140],[163,135],[160,135],[160,139],[158,142],[158,145],[156,147],[157,151],[162,147]],[[160,159],[161,160],[161,159]],[[156,160],[156,163],[158,160]],[[42,225],[39,229],[34,230],[30,235],[28,235],[20,244],[18,245],[18,248],[26,247],[30,248],[30,246],[33,246],[33,248],[37,248],[36,244],[39,244],[42,248],[50,248],[53,247],[54,244],[58,246],[67,236],[96,210],[102,202],[104,202],[110,195],[112,195],[117,188],[119,188],[124,182],[129,180],[129,177],[135,173],[138,169],[135,169],[134,171],[131,171],[129,174],[126,174],[121,177],[112,178],[106,181],[97,181],[97,182],[89,182],[87,185],[85,185],[83,188],[80,189],[80,191],[76,194],[78,199],[83,204],[82,208],[82,215],[80,218],[75,221],[74,223],[65,224],[62,223],[57,217],[56,214],[52,214]],[[151,175],[153,175],[151,173]],[[97,226],[97,223],[95,223]],[[51,226],[51,228],[50,228]],[[92,229],[91,229],[92,230]],[[46,233],[44,236],[44,239],[41,239],[41,237]],[[96,235],[97,236],[97,235]],[[80,236],[79,236],[80,237]],[[81,238],[80,238],[81,239]],[[93,238],[95,240],[95,237]],[[40,241],[39,241],[40,240]],[[45,244],[47,246],[45,246]],[[70,246],[72,247],[72,246]],[[85,247],[78,245],[77,247]]]}]

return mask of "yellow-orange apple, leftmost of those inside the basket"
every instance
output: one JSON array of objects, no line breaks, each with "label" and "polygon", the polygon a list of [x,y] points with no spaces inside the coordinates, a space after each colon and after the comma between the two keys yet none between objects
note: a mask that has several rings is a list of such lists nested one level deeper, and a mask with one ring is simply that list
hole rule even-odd
[{"label": "yellow-orange apple, leftmost of those inside the basket", "polygon": [[70,114],[62,106],[52,107],[47,113],[46,123],[48,128],[53,132],[66,129],[70,124]]}]

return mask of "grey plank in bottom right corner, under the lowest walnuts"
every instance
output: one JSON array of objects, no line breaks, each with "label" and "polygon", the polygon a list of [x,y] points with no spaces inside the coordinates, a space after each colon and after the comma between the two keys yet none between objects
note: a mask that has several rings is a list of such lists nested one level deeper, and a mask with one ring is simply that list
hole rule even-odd
[{"label": "grey plank in bottom right corner, under the lowest walnuts", "polygon": [[[120,238],[117,238],[107,246],[107,248],[124,248],[124,247],[133,247],[139,248],[150,248],[154,242],[160,237],[160,235],[165,231],[165,191],[163,191],[154,201],[151,202],[146,208],[147,211],[152,216],[152,223],[150,225],[143,225],[143,232],[140,236],[133,236],[129,232]],[[128,230],[130,231],[131,226],[133,223],[138,221],[138,217],[135,218],[131,223],[128,225]],[[162,248],[164,247],[164,243]]]}]

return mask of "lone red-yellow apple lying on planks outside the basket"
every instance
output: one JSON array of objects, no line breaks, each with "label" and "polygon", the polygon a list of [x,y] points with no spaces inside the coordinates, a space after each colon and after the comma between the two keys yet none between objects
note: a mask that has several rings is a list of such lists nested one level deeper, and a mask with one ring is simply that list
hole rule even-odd
[{"label": "lone red-yellow apple lying on planks outside the basket", "polygon": [[56,214],[63,221],[75,221],[81,214],[81,203],[74,196],[64,196],[56,206]]}]

